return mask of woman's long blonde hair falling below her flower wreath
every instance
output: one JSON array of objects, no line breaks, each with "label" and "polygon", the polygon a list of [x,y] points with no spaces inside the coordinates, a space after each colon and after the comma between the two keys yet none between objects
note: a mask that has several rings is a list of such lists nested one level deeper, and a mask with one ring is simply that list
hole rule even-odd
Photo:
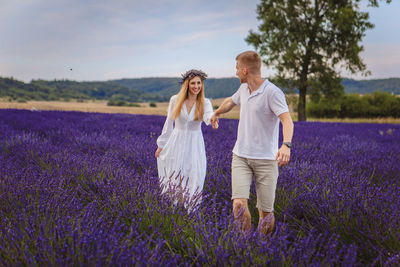
[{"label": "woman's long blonde hair falling below her flower wreath", "polygon": [[[195,77],[198,77],[198,76],[195,76]],[[178,93],[178,100],[176,101],[175,107],[172,111],[172,119],[173,120],[178,118],[179,115],[181,114],[183,103],[189,96],[189,82],[192,79],[186,79],[181,86],[181,90]],[[203,115],[204,115],[204,81],[201,80],[201,90],[200,90],[200,93],[197,95],[197,99],[196,99],[196,110],[194,113],[194,119],[202,120]]]}]

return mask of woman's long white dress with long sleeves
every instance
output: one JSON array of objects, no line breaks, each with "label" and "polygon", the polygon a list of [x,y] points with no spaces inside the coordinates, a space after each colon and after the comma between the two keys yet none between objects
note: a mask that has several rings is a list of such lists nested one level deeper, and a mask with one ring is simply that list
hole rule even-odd
[{"label": "woman's long white dress with long sleeves", "polygon": [[206,98],[203,120],[199,121],[194,120],[196,103],[190,113],[184,103],[179,117],[173,120],[171,116],[177,99],[177,95],[171,97],[168,116],[157,139],[158,147],[162,148],[157,158],[157,167],[162,192],[175,196],[180,193],[187,206],[201,201],[207,169],[201,123],[203,121],[206,125],[210,124],[213,108],[211,101]]}]

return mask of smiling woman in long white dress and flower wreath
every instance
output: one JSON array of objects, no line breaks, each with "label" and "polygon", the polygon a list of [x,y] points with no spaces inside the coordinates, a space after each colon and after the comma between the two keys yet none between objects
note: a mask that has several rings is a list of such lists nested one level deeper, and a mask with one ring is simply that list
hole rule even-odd
[{"label": "smiling woman in long white dress and flower wreath", "polygon": [[211,101],[204,98],[206,77],[199,70],[182,75],[181,90],[169,101],[168,116],[157,139],[155,156],[162,192],[178,197],[186,207],[200,203],[206,176],[201,123],[209,125],[214,114]]}]

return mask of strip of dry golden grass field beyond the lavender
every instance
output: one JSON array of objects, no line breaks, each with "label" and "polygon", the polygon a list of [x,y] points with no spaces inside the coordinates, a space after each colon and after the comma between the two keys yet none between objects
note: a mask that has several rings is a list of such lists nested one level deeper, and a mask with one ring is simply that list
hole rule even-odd
[{"label": "strip of dry golden grass field beyond the lavender", "polygon": [[[223,98],[213,99],[213,106],[221,105]],[[144,115],[167,115],[168,103],[156,103],[156,107],[150,107],[149,103],[140,103],[141,107],[116,107],[107,106],[107,101],[87,101],[87,102],[62,102],[62,101],[28,101],[26,103],[9,102],[6,99],[0,99],[1,109],[28,109],[28,110],[63,110],[63,111],[83,111],[83,112],[101,112],[101,113],[129,113]],[[297,120],[297,114],[293,112],[289,105],[293,120]],[[233,108],[230,112],[223,114],[221,118],[238,119],[239,107]],[[359,119],[314,119],[308,118],[308,121],[324,122],[353,122],[353,123],[393,123],[400,124],[400,118],[359,118]]]}]

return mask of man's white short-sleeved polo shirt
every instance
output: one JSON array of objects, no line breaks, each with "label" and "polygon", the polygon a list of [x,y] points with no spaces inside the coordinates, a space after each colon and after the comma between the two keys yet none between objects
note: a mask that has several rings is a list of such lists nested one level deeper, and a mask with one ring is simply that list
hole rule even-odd
[{"label": "man's white short-sleeved polo shirt", "polygon": [[278,116],[289,112],[282,90],[265,80],[250,95],[247,83],[243,83],[232,100],[240,105],[238,135],[233,153],[250,159],[275,160],[278,153]]}]

